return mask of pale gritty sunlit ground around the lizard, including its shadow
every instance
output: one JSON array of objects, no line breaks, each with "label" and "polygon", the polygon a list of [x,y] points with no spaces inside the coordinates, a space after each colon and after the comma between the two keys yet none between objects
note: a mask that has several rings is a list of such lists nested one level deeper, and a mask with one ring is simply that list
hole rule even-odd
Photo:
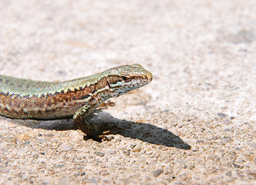
[{"label": "pale gritty sunlit ground around the lizard, including its shadow", "polygon": [[[255,184],[256,2],[0,1],[2,75],[62,81],[140,63],[85,140],[72,119],[0,117],[1,184]],[[112,106],[115,104],[114,106]]]}]

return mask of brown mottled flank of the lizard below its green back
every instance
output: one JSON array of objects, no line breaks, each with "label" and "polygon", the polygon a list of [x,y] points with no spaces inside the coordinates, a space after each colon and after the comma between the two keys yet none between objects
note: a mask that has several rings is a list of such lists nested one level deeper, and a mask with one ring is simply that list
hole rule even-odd
[{"label": "brown mottled flank of the lizard below its green back", "polygon": [[[116,76],[110,76],[111,83],[118,82]],[[0,114],[19,119],[55,119],[63,116],[70,116],[81,106],[89,103],[92,107],[98,106],[103,93],[94,94],[108,86],[106,77],[99,79],[94,84],[85,87],[77,87],[63,90],[56,93],[40,95],[19,95],[10,93],[0,93]],[[95,98],[89,99],[93,95]],[[88,102],[86,102],[88,101]]]}]

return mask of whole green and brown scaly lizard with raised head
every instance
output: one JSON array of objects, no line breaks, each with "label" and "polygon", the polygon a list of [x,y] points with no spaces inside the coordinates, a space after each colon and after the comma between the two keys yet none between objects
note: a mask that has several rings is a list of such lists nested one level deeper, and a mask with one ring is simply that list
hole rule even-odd
[{"label": "whole green and brown scaly lizard with raised head", "polygon": [[93,76],[66,82],[42,82],[0,76],[0,115],[15,119],[61,119],[74,123],[91,138],[100,133],[86,122],[106,99],[128,93],[151,82],[140,64],[116,66]]}]

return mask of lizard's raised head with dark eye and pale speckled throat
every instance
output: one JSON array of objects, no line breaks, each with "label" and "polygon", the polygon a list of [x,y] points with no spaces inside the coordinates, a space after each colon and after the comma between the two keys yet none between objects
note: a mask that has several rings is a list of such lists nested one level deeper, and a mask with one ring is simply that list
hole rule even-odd
[{"label": "lizard's raised head with dark eye and pale speckled throat", "polygon": [[105,71],[106,82],[113,96],[120,96],[152,81],[151,72],[140,64],[116,66]]}]

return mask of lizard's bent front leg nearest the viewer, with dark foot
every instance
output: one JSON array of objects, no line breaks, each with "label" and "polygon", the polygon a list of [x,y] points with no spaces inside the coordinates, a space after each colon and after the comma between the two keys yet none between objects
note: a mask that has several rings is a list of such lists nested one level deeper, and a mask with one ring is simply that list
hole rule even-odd
[{"label": "lizard's bent front leg nearest the viewer, with dark foot", "polygon": [[86,136],[88,138],[92,138],[94,140],[101,140],[103,138],[106,138],[106,136],[103,136],[103,133],[100,133],[97,130],[93,130],[93,128],[89,126],[89,123],[86,121],[86,116],[89,116],[91,113],[93,113],[93,110],[94,109],[92,106],[82,106],[74,114],[73,120],[78,129],[81,130],[83,133],[86,133]]}]

